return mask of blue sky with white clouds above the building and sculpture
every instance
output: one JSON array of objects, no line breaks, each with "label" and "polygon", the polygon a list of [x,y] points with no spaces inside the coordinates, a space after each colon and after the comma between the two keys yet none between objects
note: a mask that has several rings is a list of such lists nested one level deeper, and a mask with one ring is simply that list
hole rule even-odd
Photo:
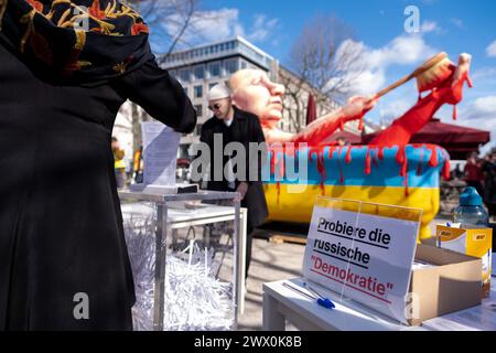
[{"label": "blue sky with white clouds above the building and sculpture", "polygon": [[[405,31],[407,6],[420,11],[420,33]],[[459,54],[470,53],[474,88],[465,90],[457,124],[489,130],[496,140],[494,0],[203,0],[202,11],[216,14],[217,20],[198,24],[202,38],[196,40],[208,42],[241,34],[282,64],[305,24],[319,14],[334,14],[353,30],[354,42],[370,58],[363,82],[356,83],[360,94],[379,90],[434,53],[444,51],[454,62]],[[416,99],[414,85],[408,84],[381,99],[367,118],[378,121],[399,116]],[[451,111],[443,108],[438,116],[452,122]]]}]

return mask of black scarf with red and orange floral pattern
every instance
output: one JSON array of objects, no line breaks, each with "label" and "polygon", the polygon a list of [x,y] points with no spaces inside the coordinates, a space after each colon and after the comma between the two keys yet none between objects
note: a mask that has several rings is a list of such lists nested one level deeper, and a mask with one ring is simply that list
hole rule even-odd
[{"label": "black scarf with red and orange floral pattern", "polygon": [[26,60],[101,82],[151,58],[148,26],[119,0],[0,0],[0,35]]}]

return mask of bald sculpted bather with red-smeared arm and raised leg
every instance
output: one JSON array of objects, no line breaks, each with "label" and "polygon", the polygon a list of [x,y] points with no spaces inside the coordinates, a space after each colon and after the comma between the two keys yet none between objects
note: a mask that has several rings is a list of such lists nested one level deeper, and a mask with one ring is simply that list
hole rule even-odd
[{"label": "bald sculpted bather with red-smeared arm and raised leg", "polygon": [[[444,105],[456,105],[462,99],[465,82],[472,86],[468,78],[471,56],[462,54],[459,65],[450,64],[430,88],[432,93],[420,98],[403,116],[377,136],[370,145],[403,146],[411,137],[429,122],[434,114]],[[271,82],[267,74],[257,69],[242,69],[230,79],[233,101],[240,109],[256,114],[266,135],[268,143],[273,142],[306,142],[310,146],[321,145],[337,129],[343,129],[348,121],[360,120],[374,108],[378,98],[353,97],[347,105],[336,109],[306,126],[299,133],[281,131],[277,124],[282,119],[282,96],[284,87]]]}]

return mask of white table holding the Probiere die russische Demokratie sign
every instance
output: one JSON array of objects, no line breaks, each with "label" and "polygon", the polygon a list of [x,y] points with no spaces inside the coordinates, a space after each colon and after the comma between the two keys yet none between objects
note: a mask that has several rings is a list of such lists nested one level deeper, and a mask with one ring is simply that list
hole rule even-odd
[{"label": "white table holding the Probiere die russische Demokratie sign", "polygon": [[[495,279],[495,278],[493,278]],[[284,331],[285,320],[302,331],[496,331],[496,288],[482,306],[425,321],[421,327],[407,327],[353,300],[312,282],[320,293],[330,298],[336,308],[327,310],[314,300],[283,286],[288,282],[303,288],[302,278],[263,285],[263,330]],[[306,291],[305,289],[302,289]]]}]

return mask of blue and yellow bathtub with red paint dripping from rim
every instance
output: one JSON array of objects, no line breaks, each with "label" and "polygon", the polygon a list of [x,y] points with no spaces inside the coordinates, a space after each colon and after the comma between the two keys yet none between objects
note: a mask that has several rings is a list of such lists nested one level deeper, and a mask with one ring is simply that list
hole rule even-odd
[{"label": "blue and yellow bathtub with red paint dripping from rim", "polygon": [[[309,172],[292,181],[288,163],[300,159]],[[319,196],[356,200],[421,208],[421,239],[432,236],[429,224],[439,212],[441,173],[450,171],[448,152],[433,145],[320,147],[293,156],[271,151],[270,160],[271,180],[265,183],[268,221],[310,223]]]}]

